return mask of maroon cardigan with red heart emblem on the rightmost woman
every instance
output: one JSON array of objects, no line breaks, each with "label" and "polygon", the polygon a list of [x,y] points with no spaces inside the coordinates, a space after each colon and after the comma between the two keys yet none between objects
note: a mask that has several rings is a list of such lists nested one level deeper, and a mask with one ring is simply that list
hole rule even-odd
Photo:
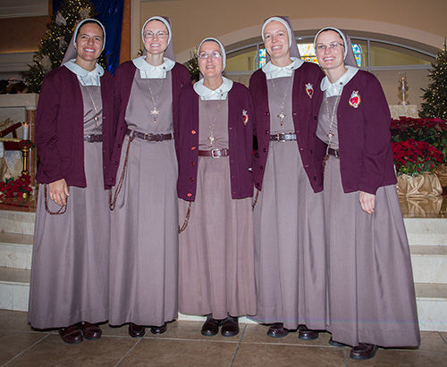
[{"label": "maroon cardigan with red heart emblem on the rightmost woman", "polygon": [[[360,96],[357,108],[350,105],[354,91]],[[395,184],[390,109],[373,74],[358,71],[344,86],[337,121],[343,191],[375,195],[377,188]],[[317,160],[316,168],[323,171],[321,157]]]}]

